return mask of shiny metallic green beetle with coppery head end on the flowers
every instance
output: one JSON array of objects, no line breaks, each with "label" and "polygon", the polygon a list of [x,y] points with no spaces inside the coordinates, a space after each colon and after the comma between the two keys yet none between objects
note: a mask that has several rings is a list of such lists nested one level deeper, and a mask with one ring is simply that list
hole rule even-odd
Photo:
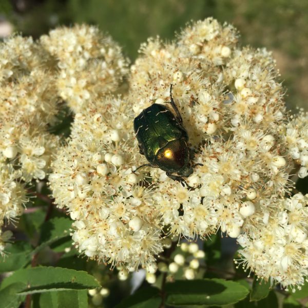
[{"label": "shiny metallic green beetle with coppery head end on the flowers", "polygon": [[156,167],[166,171],[172,180],[187,185],[183,177],[189,177],[193,172],[187,145],[188,134],[172,98],[172,85],[170,103],[175,114],[163,105],[152,104],[134,119],[133,127],[140,153],[146,157],[149,164],[144,164],[133,172],[144,166]]}]

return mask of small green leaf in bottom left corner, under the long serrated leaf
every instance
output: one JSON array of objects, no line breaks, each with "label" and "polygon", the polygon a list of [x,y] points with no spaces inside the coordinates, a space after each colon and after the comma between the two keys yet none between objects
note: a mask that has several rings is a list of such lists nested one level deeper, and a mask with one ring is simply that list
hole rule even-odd
[{"label": "small green leaf in bottom left corner, under the long serrated leaf", "polygon": [[17,295],[23,290],[26,284],[16,282],[7,285],[0,290],[0,308],[18,308],[24,300],[24,296]]}]

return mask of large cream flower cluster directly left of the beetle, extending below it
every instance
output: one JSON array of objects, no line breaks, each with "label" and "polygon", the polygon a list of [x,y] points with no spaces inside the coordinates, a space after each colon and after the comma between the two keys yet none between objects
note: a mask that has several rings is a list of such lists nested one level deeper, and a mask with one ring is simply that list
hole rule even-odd
[{"label": "large cream flower cluster directly left of the beetle, extending below it", "polygon": [[155,262],[163,242],[155,191],[137,185],[131,172],[141,160],[132,119],[131,106],[112,97],[77,113],[49,180],[56,203],[75,220],[72,238],[80,251],[137,268]]}]

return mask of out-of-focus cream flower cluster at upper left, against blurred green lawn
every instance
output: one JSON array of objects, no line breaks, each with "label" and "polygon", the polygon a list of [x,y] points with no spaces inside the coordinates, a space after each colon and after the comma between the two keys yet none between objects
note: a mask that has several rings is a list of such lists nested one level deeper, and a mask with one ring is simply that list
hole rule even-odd
[{"label": "out-of-focus cream flower cluster at upper left, against blurred green lawn", "polygon": [[41,36],[40,42],[59,61],[57,88],[74,112],[117,90],[128,73],[120,46],[97,27],[56,28]]}]

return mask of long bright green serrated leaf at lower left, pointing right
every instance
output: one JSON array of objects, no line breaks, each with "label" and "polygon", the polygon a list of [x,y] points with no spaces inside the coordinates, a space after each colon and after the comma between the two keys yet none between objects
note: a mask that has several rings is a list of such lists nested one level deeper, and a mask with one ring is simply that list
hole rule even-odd
[{"label": "long bright green serrated leaf at lower left, pointing right", "polygon": [[27,288],[18,293],[22,295],[61,290],[85,290],[100,286],[94,277],[84,271],[52,266],[20,269],[6,278],[1,288],[15,282],[27,285]]}]

